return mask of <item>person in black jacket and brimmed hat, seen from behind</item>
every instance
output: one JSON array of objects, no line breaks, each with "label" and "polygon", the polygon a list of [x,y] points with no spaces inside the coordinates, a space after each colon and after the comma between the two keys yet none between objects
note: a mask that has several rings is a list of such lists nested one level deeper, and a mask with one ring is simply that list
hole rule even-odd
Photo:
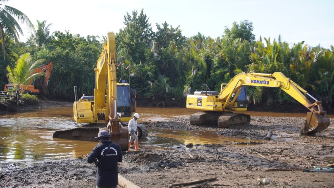
[{"label": "person in black jacket and brimmed hat, seen from behind", "polygon": [[122,150],[118,144],[110,141],[108,131],[102,130],[95,138],[99,139],[99,144],[93,149],[87,158],[88,163],[95,162],[98,167],[96,173],[97,188],[116,188],[118,185],[117,162],[122,162]]}]

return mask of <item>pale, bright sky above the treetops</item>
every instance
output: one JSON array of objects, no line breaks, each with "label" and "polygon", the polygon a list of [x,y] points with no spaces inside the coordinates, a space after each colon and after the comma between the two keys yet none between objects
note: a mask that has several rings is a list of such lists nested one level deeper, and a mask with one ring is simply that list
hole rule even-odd
[{"label": "pale, bright sky above the treetops", "polygon": [[[235,21],[253,22],[256,39],[270,37],[289,42],[301,41],[324,48],[334,45],[332,0],[9,0],[3,4],[17,8],[30,21],[52,23],[50,31],[72,34],[106,35],[124,28],[124,15],[144,9],[153,30],[165,21],[174,28],[180,26],[186,37],[197,35],[216,38],[231,28]],[[24,36],[31,34],[21,24]]]}]

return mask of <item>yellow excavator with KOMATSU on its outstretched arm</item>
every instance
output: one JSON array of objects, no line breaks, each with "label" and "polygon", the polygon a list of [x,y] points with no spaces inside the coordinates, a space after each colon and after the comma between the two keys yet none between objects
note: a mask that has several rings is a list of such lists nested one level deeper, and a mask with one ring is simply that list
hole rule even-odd
[{"label": "yellow excavator with KOMATSU on its outstretched arm", "polygon": [[[249,124],[251,116],[243,113],[233,113],[237,109],[236,100],[244,86],[279,87],[291,97],[304,105],[310,112],[307,112],[303,133],[319,132],[329,126],[329,118],[324,111],[321,101],[315,99],[306,90],[287,78],[281,72],[273,74],[264,73],[240,73],[234,76],[228,84],[221,85],[221,91],[210,91],[205,85],[202,91],[187,96],[186,107],[200,110],[190,116],[190,124],[202,125],[217,122],[218,127],[228,128],[237,124]],[[306,96],[315,102],[311,103]]]}]

